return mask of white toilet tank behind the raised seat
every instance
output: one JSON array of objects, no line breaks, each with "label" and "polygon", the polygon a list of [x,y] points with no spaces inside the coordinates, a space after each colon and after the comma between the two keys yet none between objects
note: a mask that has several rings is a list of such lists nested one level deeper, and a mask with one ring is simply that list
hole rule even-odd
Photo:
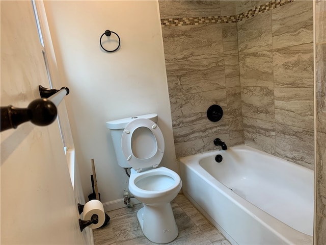
[{"label": "white toilet tank behind the raised seat", "polygon": [[124,158],[121,148],[121,137],[124,128],[129,124],[129,122],[138,119],[138,118],[146,118],[154,121],[155,123],[158,121],[157,114],[146,114],[141,116],[133,116],[133,117],[127,117],[123,119],[113,120],[113,121],[107,121],[106,122],[106,128],[110,129],[111,138],[113,141],[114,150],[116,152],[116,157],[118,164],[121,167],[130,167],[127,160]]}]

